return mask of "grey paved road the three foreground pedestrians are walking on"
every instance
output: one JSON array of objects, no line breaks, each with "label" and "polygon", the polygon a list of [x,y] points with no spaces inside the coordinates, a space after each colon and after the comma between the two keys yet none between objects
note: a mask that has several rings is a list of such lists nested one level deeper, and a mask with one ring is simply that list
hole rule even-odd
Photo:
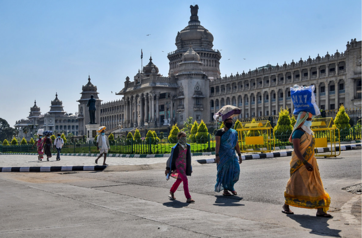
[{"label": "grey paved road the three foreground pedestrians are walking on", "polygon": [[281,213],[289,157],[244,161],[233,197],[213,192],[214,164],[195,164],[189,179],[195,204],[185,203],[182,188],[177,200],[168,199],[173,181],[166,182],[162,165],[1,173],[0,237],[361,237],[361,195],[341,190],[361,183],[361,150],[342,155],[318,160],[332,219],[315,217],[314,209]]}]

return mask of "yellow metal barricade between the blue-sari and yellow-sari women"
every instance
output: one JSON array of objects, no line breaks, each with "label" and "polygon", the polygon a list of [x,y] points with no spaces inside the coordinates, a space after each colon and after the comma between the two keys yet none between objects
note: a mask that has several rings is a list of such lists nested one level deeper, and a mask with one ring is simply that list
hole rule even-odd
[{"label": "yellow metal barricade between the blue-sari and yellow-sari women", "polygon": [[[270,122],[240,122],[236,128],[241,152],[271,152],[274,150],[274,132]],[[272,149],[273,148],[273,149]]]}]

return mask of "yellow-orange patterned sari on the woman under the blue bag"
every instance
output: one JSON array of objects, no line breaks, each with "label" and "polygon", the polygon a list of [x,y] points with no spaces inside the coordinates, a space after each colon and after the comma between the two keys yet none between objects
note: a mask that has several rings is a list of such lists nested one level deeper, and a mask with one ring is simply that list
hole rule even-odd
[{"label": "yellow-orange patterned sari on the woman under the blue bag", "polygon": [[304,159],[313,166],[313,171],[308,171],[294,151],[292,152],[290,178],[284,192],[285,203],[301,208],[323,208],[323,211],[327,212],[331,197],[324,191],[317,160],[314,156],[314,145],[313,134],[304,133],[300,138],[300,152]]}]

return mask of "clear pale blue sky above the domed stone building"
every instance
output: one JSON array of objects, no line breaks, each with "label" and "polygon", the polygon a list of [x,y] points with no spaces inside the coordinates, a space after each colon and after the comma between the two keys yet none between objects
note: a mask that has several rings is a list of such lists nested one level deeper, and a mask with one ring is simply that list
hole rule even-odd
[{"label": "clear pale blue sky above the domed stone building", "polygon": [[103,102],[121,99],[115,93],[141,68],[141,49],[143,65],[152,54],[167,76],[167,53],[194,4],[222,76],[344,52],[362,38],[361,0],[0,0],[0,118],[13,126],[35,99],[44,114],[56,93],[75,114],[88,74]]}]

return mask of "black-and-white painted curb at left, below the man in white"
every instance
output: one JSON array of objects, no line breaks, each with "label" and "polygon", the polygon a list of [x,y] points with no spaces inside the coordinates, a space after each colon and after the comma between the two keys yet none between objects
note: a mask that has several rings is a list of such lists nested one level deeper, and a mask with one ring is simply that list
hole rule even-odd
[{"label": "black-and-white painted curb at left, below the man in white", "polygon": [[0,167],[0,172],[58,172],[58,171],[100,171],[107,165],[92,166],[38,166],[38,167]]}]

